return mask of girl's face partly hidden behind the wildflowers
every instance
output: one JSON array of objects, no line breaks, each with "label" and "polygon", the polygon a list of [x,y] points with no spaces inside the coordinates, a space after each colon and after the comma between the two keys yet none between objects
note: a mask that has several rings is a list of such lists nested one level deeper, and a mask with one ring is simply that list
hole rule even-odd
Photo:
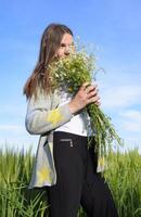
[{"label": "girl's face partly hidden behind the wildflowers", "polygon": [[55,56],[57,58],[64,58],[69,54],[69,52],[73,51],[74,47],[74,41],[73,41],[73,36],[69,34],[64,34],[61,46],[57,49]]}]

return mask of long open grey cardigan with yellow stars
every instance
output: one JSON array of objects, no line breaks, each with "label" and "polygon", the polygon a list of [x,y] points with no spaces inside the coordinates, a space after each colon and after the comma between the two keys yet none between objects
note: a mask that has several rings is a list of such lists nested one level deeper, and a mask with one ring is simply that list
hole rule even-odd
[{"label": "long open grey cardigan with yellow stars", "polygon": [[69,122],[73,117],[68,104],[59,107],[60,101],[59,91],[46,95],[41,90],[38,90],[37,99],[31,97],[28,101],[26,129],[31,135],[40,135],[29,189],[56,183],[53,129]]}]

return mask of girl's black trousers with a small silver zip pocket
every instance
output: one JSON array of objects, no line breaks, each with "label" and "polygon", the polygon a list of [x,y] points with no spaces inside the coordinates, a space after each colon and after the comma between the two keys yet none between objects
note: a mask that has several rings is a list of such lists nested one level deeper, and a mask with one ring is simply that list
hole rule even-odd
[{"label": "girl's black trousers with a small silver zip pocket", "polygon": [[104,179],[97,174],[97,155],[86,137],[54,132],[56,184],[47,188],[49,217],[76,217],[80,207],[89,217],[117,217]]}]

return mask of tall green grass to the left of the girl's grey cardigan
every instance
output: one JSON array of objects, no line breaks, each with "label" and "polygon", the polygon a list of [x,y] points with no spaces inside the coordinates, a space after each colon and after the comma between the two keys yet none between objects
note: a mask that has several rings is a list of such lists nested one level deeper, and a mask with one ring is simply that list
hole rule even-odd
[{"label": "tall green grass to the left of the girl's grey cardigan", "polygon": [[44,192],[28,190],[34,157],[30,151],[0,151],[0,217],[42,217]]}]

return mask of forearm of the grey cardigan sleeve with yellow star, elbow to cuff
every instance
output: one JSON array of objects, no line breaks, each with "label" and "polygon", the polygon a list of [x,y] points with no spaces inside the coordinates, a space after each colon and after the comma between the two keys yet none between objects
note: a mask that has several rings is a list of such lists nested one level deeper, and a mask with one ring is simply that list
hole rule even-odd
[{"label": "forearm of the grey cardigan sleeve with yellow star, elbow to cuff", "polygon": [[43,135],[69,122],[72,113],[68,104],[54,110],[36,108],[27,113],[26,129],[31,135]]}]

